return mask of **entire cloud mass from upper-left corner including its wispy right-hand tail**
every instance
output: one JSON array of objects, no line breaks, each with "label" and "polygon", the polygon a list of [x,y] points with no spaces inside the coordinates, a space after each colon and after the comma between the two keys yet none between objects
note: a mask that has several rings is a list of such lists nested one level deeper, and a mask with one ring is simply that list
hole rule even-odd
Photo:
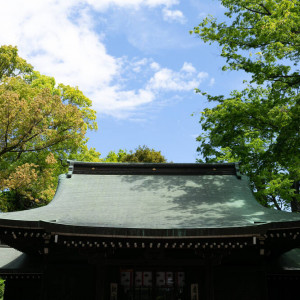
[{"label": "entire cloud mass from upper-left corner including its wispy right-hand tail", "polygon": [[[125,61],[107,52],[101,33],[94,31],[90,7],[109,5],[171,7],[177,0],[11,0],[0,10],[0,44],[17,45],[20,56],[58,83],[78,86],[100,113],[125,118],[159,97],[159,91],[188,91],[207,76],[192,64],[180,71],[162,68],[151,59]],[[75,17],[76,16],[76,17]],[[124,64],[127,64],[124,66]],[[147,70],[140,89],[124,84],[127,70]],[[150,73],[149,73],[150,72]],[[155,72],[155,73],[154,73]],[[128,72],[127,72],[128,73]],[[153,74],[154,73],[154,74]],[[200,75],[201,76],[200,76]],[[200,76],[200,77],[199,77]],[[139,80],[141,80],[141,76]]]}]

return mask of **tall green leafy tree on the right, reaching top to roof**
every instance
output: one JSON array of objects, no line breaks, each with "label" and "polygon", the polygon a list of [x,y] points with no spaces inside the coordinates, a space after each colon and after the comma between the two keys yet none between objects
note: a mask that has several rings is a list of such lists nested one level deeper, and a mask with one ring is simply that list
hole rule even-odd
[{"label": "tall green leafy tree on the right, reaching top to roof", "polygon": [[[251,81],[202,112],[198,151],[205,161],[240,161],[265,206],[300,211],[299,51],[297,0],[222,0],[226,22],[209,16],[192,32],[216,42],[223,70],[242,70]],[[191,33],[192,33],[191,32]]]}]

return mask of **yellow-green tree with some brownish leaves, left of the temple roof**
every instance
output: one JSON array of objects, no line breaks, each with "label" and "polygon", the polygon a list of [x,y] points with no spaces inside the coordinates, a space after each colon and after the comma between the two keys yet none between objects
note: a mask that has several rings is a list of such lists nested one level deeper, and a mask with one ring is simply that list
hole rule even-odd
[{"label": "yellow-green tree with some brownish leaves, left of the temple roof", "polygon": [[49,202],[67,158],[99,160],[85,133],[96,130],[91,100],[77,87],[56,84],[0,47],[0,208],[16,210]]}]

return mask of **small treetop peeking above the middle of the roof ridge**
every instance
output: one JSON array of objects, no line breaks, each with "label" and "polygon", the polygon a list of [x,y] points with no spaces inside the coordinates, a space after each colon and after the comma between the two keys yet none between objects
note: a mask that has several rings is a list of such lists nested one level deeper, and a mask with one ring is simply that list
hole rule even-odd
[{"label": "small treetop peeking above the middle of the roof ridge", "polygon": [[150,149],[147,146],[139,146],[135,151],[129,151],[120,149],[118,153],[110,151],[105,162],[128,162],[128,163],[166,163],[166,158],[160,151]]}]

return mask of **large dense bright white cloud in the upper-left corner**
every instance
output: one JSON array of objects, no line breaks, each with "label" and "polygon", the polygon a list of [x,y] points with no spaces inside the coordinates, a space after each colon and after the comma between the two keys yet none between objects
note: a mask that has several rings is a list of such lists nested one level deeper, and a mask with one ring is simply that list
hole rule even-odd
[{"label": "large dense bright white cloud in the upper-left corner", "polygon": [[[73,3],[76,1],[66,1]],[[89,24],[86,11],[80,11],[77,24],[69,18],[69,6],[55,1],[9,1],[0,11],[1,44],[17,45],[35,68],[60,82],[83,90],[106,86],[119,71]],[[32,4],[32,5],[31,5]],[[16,9],[18,7],[19,9]],[[12,18],[11,16],[14,16]]]}]

